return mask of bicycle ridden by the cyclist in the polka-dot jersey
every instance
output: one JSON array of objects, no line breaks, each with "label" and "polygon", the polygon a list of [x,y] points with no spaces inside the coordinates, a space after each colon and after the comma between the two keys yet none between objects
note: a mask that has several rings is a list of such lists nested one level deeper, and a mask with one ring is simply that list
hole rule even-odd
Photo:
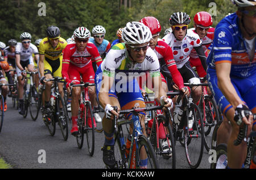
[{"label": "bicycle ridden by the cyclist in the polka-dot jersey", "polygon": [[[191,84],[184,83],[190,86]],[[167,92],[167,96],[172,93]],[[176,106],[181,101],[179,95]],[[181,108],[184,109],[179,125],[173,121],[172,128],[175,139],[179,139],[181,145],[185,147],[185,155],[190,168],[195,169],[200,165],[204,150],[204,123],[199,107],[192,101],[191,95],[182,99]]]}]

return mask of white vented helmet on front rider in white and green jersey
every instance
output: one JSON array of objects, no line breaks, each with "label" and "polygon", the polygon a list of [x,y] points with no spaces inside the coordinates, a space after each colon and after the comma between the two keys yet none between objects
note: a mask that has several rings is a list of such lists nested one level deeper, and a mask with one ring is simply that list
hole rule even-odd
[{"label": "white vented helmet on front rider in white and green jersey", "polygon": [[152,38],[150,29],[139,22],[129,22],[122,31],[122,40],[126,44],[144,44]]}]

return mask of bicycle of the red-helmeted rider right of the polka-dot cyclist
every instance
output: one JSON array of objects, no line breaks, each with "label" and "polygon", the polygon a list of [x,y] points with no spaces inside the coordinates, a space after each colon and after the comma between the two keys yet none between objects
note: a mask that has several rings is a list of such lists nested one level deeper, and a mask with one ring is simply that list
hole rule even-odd
[{"label": "bicycle of the red-helmeted rider right of the polka-dot cyclist", "polygon": [[[200,78],[201,80],[205,80],[204,78]],[[186,84],[186,83],[185,83]],[[202,88],[202,95],[199,101],[199,109],[201,110],[201,114],[204,120],[204,132],[205,132],[205,141],[204,147],[209,152],[210,150],[210,142],[211,138],[208,136],[218,121],[220,121],[220,113],[218,110],[217,103],[213,97],[213,95],[208,95],[207,87],[209,86],[208,83],[201,83],[201,84],[189,84],[190,87],[199,86],[201,85]]]}]

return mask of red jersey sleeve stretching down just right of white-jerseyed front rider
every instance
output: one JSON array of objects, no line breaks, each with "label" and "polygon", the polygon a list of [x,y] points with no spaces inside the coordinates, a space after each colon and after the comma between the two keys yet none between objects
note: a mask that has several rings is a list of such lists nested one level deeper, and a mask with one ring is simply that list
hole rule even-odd
[{"label": "red jersey sleeve stretching down just right of white-jerseyed front rider", "polygon": [[171,47],[166,44],[166,42],[158,40],[158,44],[155,46],[154,52],[156,53],[159,60],[163,58],[164,62],[166,62],[166,65],[171,72],[174,83],[179,87],[179,89],[183,88],[183,78],[180,75],[179,70],[177,70]]}]

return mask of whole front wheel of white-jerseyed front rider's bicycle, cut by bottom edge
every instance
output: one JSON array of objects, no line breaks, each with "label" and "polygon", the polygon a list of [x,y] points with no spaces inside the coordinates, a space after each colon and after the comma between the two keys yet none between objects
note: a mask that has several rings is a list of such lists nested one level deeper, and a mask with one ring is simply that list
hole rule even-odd
[{"label": "whole front wheel of white-jerseyed front rider's bicycle, cut by bottom edge", "polygon": [[137,168],[159,169],[158,160],[156,159],[155,151],[150,141],[144,135],[140,135],[138,136],[137,143]]}]

